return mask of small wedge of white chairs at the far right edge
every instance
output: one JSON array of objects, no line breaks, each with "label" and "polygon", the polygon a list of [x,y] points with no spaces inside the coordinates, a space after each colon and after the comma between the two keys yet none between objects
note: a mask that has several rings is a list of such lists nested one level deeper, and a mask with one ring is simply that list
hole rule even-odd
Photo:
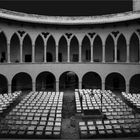
[{"label": "small wedge of white chairs at the far right edge", "polygon": [[140,94],[122,92],[122,96],[130,104],[130,106],[140,111]]}]

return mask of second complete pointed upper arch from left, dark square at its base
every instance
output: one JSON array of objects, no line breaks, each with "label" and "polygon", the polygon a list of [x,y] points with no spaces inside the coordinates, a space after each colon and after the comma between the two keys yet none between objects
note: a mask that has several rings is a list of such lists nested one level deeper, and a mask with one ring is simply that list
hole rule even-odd
[{"label": "second complete pointed upper arch from left, dark square at its base", "polygon": [[32,62],[32,41],[27,34],[23,40],[23,62]]}]

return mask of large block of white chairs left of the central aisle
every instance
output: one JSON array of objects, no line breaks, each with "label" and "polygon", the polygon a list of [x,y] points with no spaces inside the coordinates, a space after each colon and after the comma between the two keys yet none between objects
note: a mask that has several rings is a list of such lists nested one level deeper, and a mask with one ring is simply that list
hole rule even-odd
[{"label": "large block of white chairs left of the central aisle", "polygon": [[0,122],[2,137],[60,138],[63,92],[30,92]]}]

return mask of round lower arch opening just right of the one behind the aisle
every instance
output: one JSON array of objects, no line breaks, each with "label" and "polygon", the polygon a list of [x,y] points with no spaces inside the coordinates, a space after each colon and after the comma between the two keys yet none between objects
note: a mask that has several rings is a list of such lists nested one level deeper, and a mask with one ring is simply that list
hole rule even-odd
[{"label": "round lower arch opening just right of the one behind the aisle", "polygon": [[83,89],[101,89],[101,77],[95,72],[87,72],[82,78]]}]

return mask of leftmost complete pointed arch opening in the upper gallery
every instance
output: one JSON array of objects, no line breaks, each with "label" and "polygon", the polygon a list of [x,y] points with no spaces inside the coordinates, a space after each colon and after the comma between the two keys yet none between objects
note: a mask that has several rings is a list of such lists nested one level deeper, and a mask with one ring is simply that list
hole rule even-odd
[{"label": "leftmost complete pointed arch opening in the upper gallery", "polygon": [[20,41],[16,33],[13,34],[10,41],[10,60],[15,63],[20,61]]}]

